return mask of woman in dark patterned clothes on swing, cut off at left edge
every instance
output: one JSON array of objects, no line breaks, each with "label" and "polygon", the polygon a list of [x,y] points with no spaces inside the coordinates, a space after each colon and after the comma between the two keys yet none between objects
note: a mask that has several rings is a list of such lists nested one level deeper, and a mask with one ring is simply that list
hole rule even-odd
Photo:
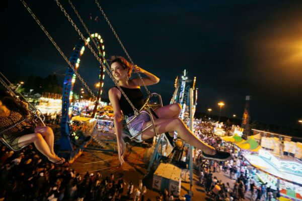
[{"label": "woman in dark patterned clothes on swing, cut off at left edge", "polygon": [[[13,98],[8,92],[0,90],[0,131],[5,130],[22,119],[29,116],[30,112],[23,102]],[[20,125],[22,124],[22,125]],[[2,134],[2,138],[15,150],[30,143],[55,164],[63,164],[64,158],[58,157],[53,150],[53,131],[48,126],[34,127],[23,121]]]}]

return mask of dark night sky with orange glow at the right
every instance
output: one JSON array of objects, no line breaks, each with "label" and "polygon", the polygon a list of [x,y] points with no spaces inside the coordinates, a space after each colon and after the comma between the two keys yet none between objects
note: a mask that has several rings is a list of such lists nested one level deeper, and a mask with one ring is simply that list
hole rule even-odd
[{"label": "dark night sky with orange glow at the right", "polygon": [[[78,34],[54,1],[26,1],[69,58]],[[160,77],[150,91],[168,104],[174,80],[197,77],[197,111],[224,101],[221,115],[242,117],[251,95],[251,120],[298,126],[302,119],[302,1],[99,1],[134,63]],[[84,33],[67,1],[61,1]],[[125,56],[94,0],[73,1],[89,26],[99,22],[107,58]],[[1,6],[1,71],[9,79],[64,74],[66,63],[20,1]],[[80,74],[91,88],[97,60],[88,48]],[[113,86],[105,76],[104,96]],[[82,86],[78,82],[75,92]]]}]

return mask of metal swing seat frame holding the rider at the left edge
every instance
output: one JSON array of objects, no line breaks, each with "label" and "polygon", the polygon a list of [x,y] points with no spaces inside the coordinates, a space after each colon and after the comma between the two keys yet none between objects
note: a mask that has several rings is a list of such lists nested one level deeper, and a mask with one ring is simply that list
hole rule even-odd
[{"label": "metal swing seat frame holding the rider at the left edge", "polygon": [[38,126],[38,125],[43,125],[45,126],[44,124],[44,120],[45,120],[45,117],[44,115],[41,113],[40,110],[38,109],[34,109],[30,112],[30,115],[25,117],[24,119],[21,119],[19,122],[15,123],[14,125],[4,129],[3,131],[0,132],[0,141],[5,144],[7,147],[9,147],[11,150],[13,151],[19,151],[21,149],[23,149],[24,147],[26,147],[27,145],[25,146],[22,146],[20,147],[20,149],[14,149],[6,140],[5,138],[3,137],[3,134],[8,132],[8,133],[12,133],[12,129],[14,129],[15,127],[24,127],[24,125],[22,124],[23,122],[27,122],[28,124],[31,124],[32,126]]}]

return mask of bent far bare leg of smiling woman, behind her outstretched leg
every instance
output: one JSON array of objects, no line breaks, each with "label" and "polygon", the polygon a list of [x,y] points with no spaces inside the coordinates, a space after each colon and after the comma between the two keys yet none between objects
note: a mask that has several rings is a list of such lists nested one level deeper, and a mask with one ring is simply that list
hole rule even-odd
[{"label": "bent far bare leg of smiling woman, behind her outstretched leg", "polygon": [[[181,104],[173,103],[154,110],[159,118],[179,117],[182,107]],[[174,130],[169,131],[170,136],[174,136]]]}]

